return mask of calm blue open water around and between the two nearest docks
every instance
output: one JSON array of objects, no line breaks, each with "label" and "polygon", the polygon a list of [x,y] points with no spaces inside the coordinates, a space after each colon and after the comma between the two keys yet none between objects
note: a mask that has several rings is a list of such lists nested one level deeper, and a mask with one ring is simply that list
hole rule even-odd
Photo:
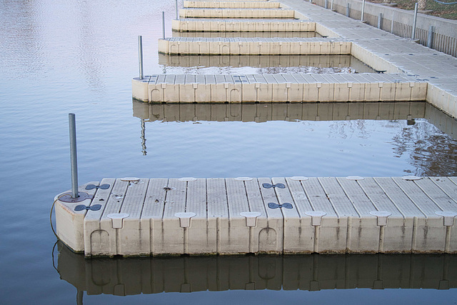
[{"label": "calm blue open water around and between the two nearest docks", "polygon": [[[120,2],[0,0],[2,304],[77,301],[79,284],[71,284],[63,274],[61,278],[52,264],[56,239],[49,227],[54,195],[70,188],[70,112],[76,113],[81,183],[121,176],[457,175],[455,121],[426,104],[387,110],[386,119],[382,114],[381,120],[376,120],[376,109],[381,109],[376,106],[363,106],[371,109],[366,115],[365,110],[363,115],[348,112],[351,120],[346,120],[344,113],[348,109],[324,111],[324,106],[317,104],[299,113],[297,109],[258,104],[258,114],[252,114],[249,106],[229,105],[218,110],[223,111],[221,119],[209,116],[201,106],[190,105],[194,108],[178,113],[170,110],[172,106],[164,106],[167,108],[159,111],[166,111],[166,117],[147,108],[149,105],[138,106],[131,100],[131,78],[138,74],[137,35],[144,36],[146,74],[161,73],[166,66],[159,64],[156,51],[160,15],[166,11],[170,21],[174,3]],[[171,36],[170,24],[167,36]],[[364,104],[354,107],[360,105]],[[415,124],[406,120],[405,107],[408,114],[415,111],[411,112]],[[303,116],[305,113],[308,116]],[[191,114],[194,116],[189,119]],[[142,146],[142,127],[146,147]],[[58,252],[54,250],[55,256]],[[69,271],[70,276],[81,275],[94,264],[83,260],[83,270],[78,268],[81,257],[76,256],[76,262],[69,265],[61,264],[61,259],[64,251],[59,264],[57,257],[55,261],[59,270]],[[233,264],[242,266],[242,261]],[[114,263],[118,264],[109,264]],[[146,264],[153,263],[149,260]],[[336,263],[338,260],[333,261]],[[413,276],[420,277],[428,268],[436,270],[439,264],[426,260],[420,269],[425,271]],[[127,261],[121,267],[136,266],[135,261]],[[127,274],[123,282],[136,281],[132,276],[136,273]],[[203,289],[191,294],[137,290],[138,294],[126,297],[101,291],[99,295],[84,293],[84,304],[420,304],[436,299],[449,304],[457,299],[456,289],[437,289],[441,281],[456,286],[446,276],[432,277],[433,284],[413,285],[412,289],[347,286],[308,291],[300,287],[277,290],[276,285],[254,291]]]}]

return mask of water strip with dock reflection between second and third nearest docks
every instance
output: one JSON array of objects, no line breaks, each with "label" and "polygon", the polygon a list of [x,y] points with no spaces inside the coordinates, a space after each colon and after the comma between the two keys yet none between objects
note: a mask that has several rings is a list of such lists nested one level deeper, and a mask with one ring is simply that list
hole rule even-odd
[{"label": "water strip with dock reflection between second and third nearest docks", "polygon": [[350,55],[166,55],[159,54],[166,74],[373,73]]}]

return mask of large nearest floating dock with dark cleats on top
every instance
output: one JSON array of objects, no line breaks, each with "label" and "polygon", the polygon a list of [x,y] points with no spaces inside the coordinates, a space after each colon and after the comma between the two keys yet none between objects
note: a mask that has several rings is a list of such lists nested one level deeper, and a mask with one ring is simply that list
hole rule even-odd
[{"label": "large nearest floating dock with dark cleats on top", "polygon": [[124,178],[79,191],[88,199],[56,196],[56,231],[86,256],[457,252],[457,177]]}]

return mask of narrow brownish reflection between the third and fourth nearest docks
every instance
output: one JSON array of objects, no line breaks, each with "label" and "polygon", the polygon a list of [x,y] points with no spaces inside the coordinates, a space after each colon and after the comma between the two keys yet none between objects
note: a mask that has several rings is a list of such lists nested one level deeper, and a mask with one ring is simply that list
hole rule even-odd
[{"label": "narrow brownish reflection between the third and fourth nearest docks", "polygon": [[315,31],[173,31],[173,37],[313,38],[322,36]]}]

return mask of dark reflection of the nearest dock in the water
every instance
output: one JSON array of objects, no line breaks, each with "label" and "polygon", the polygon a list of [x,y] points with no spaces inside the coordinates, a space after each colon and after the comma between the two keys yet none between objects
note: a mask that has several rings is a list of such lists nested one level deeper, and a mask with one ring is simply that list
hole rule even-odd
[{"label": "dark reflection of the nearest dock in the water", "polygon": [[61,279],[91,294],[226,290],[452,289],[457,256],[309,254],[84,259],[59,243]]}]

